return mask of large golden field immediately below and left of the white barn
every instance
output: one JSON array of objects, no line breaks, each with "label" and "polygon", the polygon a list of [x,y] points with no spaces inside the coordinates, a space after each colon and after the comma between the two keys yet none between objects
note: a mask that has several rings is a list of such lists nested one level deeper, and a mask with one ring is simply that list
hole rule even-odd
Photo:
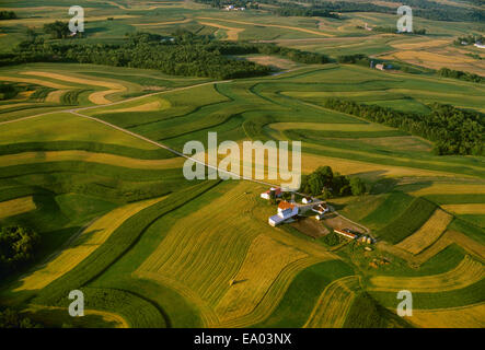
[{"label": "large golden field immediately below and left of the white barn", "polygon": [[168,277],[205,302],[217,304],[230,289],[229,281],[238,273],[253,238],[270,230],[266,222],[252,220],[255,196],[244,195],[250,188],[251,184],[241,183],[187,213],[138,271]]}]

